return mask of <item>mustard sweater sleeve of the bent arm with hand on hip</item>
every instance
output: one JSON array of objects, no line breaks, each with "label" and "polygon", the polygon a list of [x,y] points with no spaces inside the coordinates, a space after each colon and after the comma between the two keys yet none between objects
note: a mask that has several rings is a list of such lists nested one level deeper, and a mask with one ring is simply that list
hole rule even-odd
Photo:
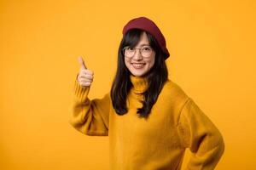
[{"label": "mustard sweater sleeve of the bent arm with hand on hip", "polygon": [[214,169],[224,153],[224,138],[191,98],[183,105],[177,129],[183,147],[191,151],[185,169]]}]

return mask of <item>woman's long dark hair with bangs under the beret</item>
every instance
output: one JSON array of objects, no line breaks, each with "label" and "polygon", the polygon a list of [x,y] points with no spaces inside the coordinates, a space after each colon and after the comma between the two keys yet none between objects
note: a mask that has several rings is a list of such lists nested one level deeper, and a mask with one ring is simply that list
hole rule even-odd
[{"label": "woman's long dark hair with bangs under the beret", "polygon": [[[168,71],[165,62],[165,54],[161,50],[159,43],[150,33],[147,31],[145,32],[148,37],[149,45],[154,49],[155,59],[153,67],[146,75],[143,76],[146,77],[148,88],[142,93],[144,100],[140,102],[143,103],[143,108],[137,108],[137,114],[139,117],[147,118],[151,108],[158,98],[158,95],[160,94],[161,89],[168,79]],[[125,46],[134,48],[139,42],[142,34],[143,30],[131,29],[130,31],[126,32],[119,45],[118,65],[111,88],[111,99],[114,110],[120,116],[127,113],[126,97],[132,88],[132,83],[130,80],[131,72],[125,65],[125,56],[122,49]]]}]

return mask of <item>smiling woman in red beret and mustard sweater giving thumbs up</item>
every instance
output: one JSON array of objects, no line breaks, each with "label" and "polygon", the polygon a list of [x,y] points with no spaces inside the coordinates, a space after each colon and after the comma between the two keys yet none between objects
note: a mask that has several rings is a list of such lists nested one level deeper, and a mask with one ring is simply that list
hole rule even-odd
[{"label": "smiling woman in red beret and mustard sweater giving thumbs up", "polygon": [[218,128],[177,83],[168,79],[170,56],[158,26],[146,17],[123,29],[111,91],[88,99],[93,72],[80,58],[70,123],[87,135],[109,136],[110,169],[210,170],[224,153]]}]

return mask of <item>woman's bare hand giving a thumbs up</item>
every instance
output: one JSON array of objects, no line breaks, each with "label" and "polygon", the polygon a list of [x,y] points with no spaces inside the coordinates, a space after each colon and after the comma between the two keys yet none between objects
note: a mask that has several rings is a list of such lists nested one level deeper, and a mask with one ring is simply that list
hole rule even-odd
[{"label": "woman's bare hand giving a thumbs up", "polygon": [[86,68],[84,64],[84,59],[79,57],[79,64],[80,64],[80,71],[77,80],[79,84],[83,87],[90,86],[91,82],[93,81],[93,71],[90,71]]}]

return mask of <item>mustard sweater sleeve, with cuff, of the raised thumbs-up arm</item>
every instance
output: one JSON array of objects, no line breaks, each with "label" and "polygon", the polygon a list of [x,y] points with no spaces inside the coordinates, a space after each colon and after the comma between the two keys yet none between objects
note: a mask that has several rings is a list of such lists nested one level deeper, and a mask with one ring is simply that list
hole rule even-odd
[{"label": "mustard sweater sleeve, with cuff, of the raised thumbs-up arm", "polygon": [[72,116],[69,123],[80,133],[90,136],[108,136],[110,109],[109,93],[102,99],[89,99],[89,87],[83,87],[76,80],[73,88]]}]

